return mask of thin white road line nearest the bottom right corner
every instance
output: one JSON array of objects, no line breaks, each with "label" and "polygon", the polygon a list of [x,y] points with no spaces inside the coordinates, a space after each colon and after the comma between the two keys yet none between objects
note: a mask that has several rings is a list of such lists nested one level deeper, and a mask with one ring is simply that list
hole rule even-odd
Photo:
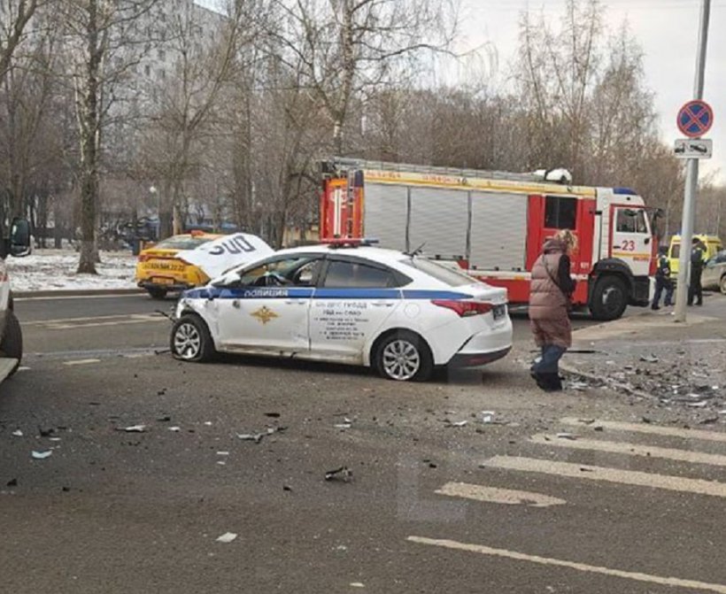
[{"label": "thin white road line nearest the bottom right corner", "polygon": [[690,590],[707,590],[709,592],[719,592],[719,594],[726,594],[726,585],[720,583],[696,582],[694,580],[684,580],[679,577],[665,577],[662,575],[650,575],[640,572],[623,571],[622,569],[612,569],[610,567],[587,565],[586,563],[577,563],[575,561],[567,561],[565,559],[539,557],[538,555],[528,555],[523,552],[507,551],[506,549],[494,549],[490,546],[485,546],[483,544],[459,543],[455,540],[447,540],[441,538],[408,536],[406,540],[411,543],[441,546],[446,549],[453,549],[456,551],[478,552],[481,555],[504,557],[506,559],[515,559],[518,561],[529,561],[530,563],[538,563],[539,565],[568,567],[568,569],[576,569],[577,571],[583,571],[591,574],[607,575],[610,577],[622,577],[624,579],[635,580],[637,582],[657,583],[661,586],[688,588]]}]

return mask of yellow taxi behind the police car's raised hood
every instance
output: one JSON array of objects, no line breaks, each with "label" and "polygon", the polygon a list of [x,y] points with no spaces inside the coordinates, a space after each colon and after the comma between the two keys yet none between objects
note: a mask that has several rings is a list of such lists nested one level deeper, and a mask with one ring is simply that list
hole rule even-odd
[{"label": "yellow taxi behind the police car's raised hood", "polygon": [[176,254],[194,250],[221,236],[191,231],[185,235],[174,235],[143,250],[136,264],[136,284],[149,291],[154,299],[163,299],[169,291],[191,289],[209,282],[209,277],[198,266],[176,258]]}]

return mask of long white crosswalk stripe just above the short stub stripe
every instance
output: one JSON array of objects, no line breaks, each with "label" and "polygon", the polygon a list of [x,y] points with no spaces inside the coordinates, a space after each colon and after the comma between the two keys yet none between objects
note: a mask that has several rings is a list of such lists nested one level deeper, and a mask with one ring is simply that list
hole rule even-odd
[{"label": "long white crosswalk stripe just above the short stub stripe", "polygon": [[635,470],[619,470],[617,468],[591,467],[585,464],[568,462],[552,462],[535,458],[514,458],[511,456],[495,456],[485,462],[487,467],[505,470],[521,470],[522,472],[554,474],[569,476],[590,481],[619,482],[638,487],[675,490],[699,495],[712,495],[726,498],[726,483],[689,479],[668,474],[641,473]]}]

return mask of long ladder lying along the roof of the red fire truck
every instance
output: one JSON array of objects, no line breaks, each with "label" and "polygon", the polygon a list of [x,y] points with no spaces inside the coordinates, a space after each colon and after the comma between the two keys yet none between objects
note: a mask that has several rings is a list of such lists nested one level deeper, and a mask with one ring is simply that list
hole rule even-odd
[{"label": "long ladder lying along the roof of the red fire truck", "polygon": [[412,174],[450,175],[461,178],[483,178],[488,180],[529,181],[571,183],[572,176],[566,169],[540,169],[529,174],[507,171],[486,171],[482,169],[458,169],[454,167],[435,167],[427,165],[410,165],[407,163],[387,163],[385,161],[369,161],[357,158],[334,157],[321,163],[323,174],[341,174],[351,169],[376,169],[379,171],[397,171]]}]

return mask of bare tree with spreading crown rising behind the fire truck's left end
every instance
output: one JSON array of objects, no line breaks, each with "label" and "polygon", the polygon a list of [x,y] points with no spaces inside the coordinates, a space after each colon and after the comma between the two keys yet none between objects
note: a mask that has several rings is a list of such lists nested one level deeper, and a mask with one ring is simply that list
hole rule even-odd
[{"label": "bare tree with spreading crown rising behind the fire truck's left end", "polygon": [[282,30],[270,35],[280,56],[303,66],[301,84],[333,125],[344,152],[344,127],[355,96],[410,73],[425,51],[446,50],[456,32],[456,0],[274,0]]}]

